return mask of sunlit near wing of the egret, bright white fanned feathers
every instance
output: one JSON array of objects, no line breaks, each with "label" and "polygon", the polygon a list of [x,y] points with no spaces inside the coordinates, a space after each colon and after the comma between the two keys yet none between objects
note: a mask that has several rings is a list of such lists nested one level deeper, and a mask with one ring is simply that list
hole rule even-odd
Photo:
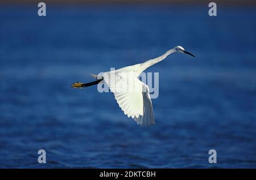
[{"label": "sunlit near wing of the egret, bright white fanned feathers", "polygon": [[143,115],[142,82],[129,72],[105,72],[104,81],[128,117]]}]

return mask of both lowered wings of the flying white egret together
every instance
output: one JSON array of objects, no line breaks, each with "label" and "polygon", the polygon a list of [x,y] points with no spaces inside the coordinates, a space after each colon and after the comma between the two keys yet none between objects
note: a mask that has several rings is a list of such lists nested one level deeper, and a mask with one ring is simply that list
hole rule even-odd
[{"label": "both lowered wings of the flying white egret together", "polygon": [[114,93],[115,100],[123,112],[134,118],[138,125],[150,126],[155,123],[148,86],[133,73],[110,71],[104,81]]}]

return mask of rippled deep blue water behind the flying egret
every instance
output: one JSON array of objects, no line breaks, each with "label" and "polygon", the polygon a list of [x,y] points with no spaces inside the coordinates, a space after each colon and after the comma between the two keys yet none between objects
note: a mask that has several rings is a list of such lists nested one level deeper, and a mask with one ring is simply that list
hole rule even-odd
[{"label": "rippled deep blue water behind the flying egret", "polygon": [[[255,6],[37,10],[0,7],[0,168],[256,168]],[[159,72],[155,126],[127,118],[112,93],[69,87],[176,45],[196,58],[147,70]]]}]

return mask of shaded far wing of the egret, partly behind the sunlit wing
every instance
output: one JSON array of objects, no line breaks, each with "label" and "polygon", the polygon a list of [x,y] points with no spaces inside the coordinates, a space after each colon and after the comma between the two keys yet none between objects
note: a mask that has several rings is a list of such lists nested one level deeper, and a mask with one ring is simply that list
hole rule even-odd
[{"label": "shaded far wing of the egret, partly behind the sunlit wing", "polygon": [[144,83],[143,85],[143,115],[139,115],[139,117],[135,117],[134,120],[137,122],[138,125],[141,126],[150,126],[155,124],[155,117],[152,107],[152,102],[150,99],[150,93],[148,86]]}]

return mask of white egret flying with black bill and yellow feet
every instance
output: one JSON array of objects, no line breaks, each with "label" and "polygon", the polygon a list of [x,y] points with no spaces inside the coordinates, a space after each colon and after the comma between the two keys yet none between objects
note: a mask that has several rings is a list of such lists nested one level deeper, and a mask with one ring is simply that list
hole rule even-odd
[{"label": "white egret flying with black bill and yellow feet", "polygon": [[72,87],[84,88],[105,82],[109,89],[114,93],[115,100],[117,100],[119,107],[128,117],[133,118],[138,125],[141,126],[154,125],[155,118],[150,99],[150,91],[147,84],[141,82],[138,79],[138,76],[146,70],[146,68],[163,61],[163,59],[172,53],[185,53],[195,57],[195,55],[187,52],[181,46],[176,46],[157,58],[150,59],[137,65],[104,72],[100,75],[93,75],[94,78],[98,80],[91,83],[76,82],[72,84]]}]

